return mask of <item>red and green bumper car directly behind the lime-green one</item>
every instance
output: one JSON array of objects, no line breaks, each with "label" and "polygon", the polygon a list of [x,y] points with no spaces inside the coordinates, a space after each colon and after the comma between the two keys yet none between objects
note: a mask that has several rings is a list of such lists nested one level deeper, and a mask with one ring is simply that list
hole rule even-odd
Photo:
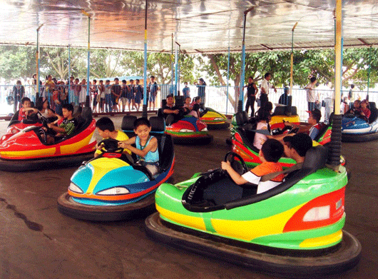
[{"label": "red and green bumper car directly behind the lime-green one", "polygon": [[[231,138],[231,145],[233,152],[240,155],[247,166],[253,167],[261,163],[259,158],[259,149],[253,146],[253,138],[255,137],[255,125],[250,122],[245,122],[245,112],[235,113],[235,126],[233,127],[233,137]],[[276,128],[277,133],[281,133],[280,128]],[[323,125],[318,136],[313,141],[313,146],[322,145],[331,141],[332,126]],[[341,158],[344,165],[344,158]],[[280,163],[283,167],[290,167],[295,164],[291,158],[280,158]]]}]

